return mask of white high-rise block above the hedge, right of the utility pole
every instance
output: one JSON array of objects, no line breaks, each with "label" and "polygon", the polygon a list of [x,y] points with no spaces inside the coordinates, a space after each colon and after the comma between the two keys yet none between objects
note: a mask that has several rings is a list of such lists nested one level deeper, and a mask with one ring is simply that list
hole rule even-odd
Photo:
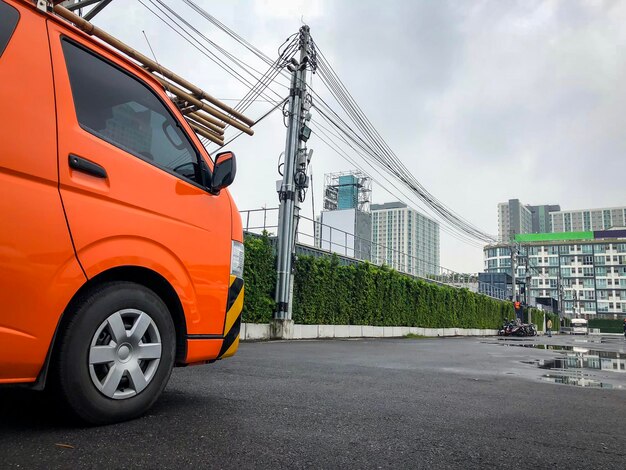
[{"label": "white high-rise block above the hedge, right of the utility pole", "polygon": [[372,262],[427,276],[439,274],[439,224],[401,202],[372,204]]}]

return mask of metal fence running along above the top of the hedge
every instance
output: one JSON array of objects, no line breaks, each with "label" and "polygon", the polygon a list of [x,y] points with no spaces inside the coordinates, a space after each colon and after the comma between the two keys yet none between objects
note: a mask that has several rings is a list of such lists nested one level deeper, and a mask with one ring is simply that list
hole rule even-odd
[{"label": "metal fence running along above the top of the hedge", "polygon": [[[270,237],[276,235],[278,208],[245,210],[240,211],[240,214],[245,232],[254,234],[267,232]],[[304,216],[298,217],[296,225],[296,252],[313,256],[328,256],[335,253],[341,257],[342,264],[365,261],[377,265],[387,264],[396,271],[412,277],[469,289],[500,300],[507,298],[504,290],[479,282],[477,274],[455,272]]]}]

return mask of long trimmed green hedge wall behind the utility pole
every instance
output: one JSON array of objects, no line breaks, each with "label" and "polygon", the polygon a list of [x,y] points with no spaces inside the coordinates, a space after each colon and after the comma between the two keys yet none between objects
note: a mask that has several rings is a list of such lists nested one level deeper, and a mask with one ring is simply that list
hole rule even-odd
[{"label": "long trimmed green hedge wall behind the utility pole", "polygon": [[[274,263],[267,236],[246,237],[245,322],[271,320]],[[413,279],[384,266],[341,266],[336,256],[298,257],[293,304],[293,319],[302,324],[495,329],[515,317],[511,302]]]}]

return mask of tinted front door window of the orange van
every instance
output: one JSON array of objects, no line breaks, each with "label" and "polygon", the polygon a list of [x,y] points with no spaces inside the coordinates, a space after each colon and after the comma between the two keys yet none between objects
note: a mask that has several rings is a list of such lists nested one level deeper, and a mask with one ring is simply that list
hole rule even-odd
[{"label": "tinted front door window of the orange van", "polygon": [[87,132],[199,184],[198,154],[145,84],[68,40],[63,54],[78,123]]}]

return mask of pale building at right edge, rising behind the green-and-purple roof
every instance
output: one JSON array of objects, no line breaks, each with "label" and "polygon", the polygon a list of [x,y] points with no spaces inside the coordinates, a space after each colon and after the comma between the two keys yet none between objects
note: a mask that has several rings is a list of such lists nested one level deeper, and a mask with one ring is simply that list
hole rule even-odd
[{"label": "pale building at right edge, rising behind the green-and-purple roof", "polygon": [[588,232],[626,227],[626,207],[558,211],[550,214],[552,232]]}]

